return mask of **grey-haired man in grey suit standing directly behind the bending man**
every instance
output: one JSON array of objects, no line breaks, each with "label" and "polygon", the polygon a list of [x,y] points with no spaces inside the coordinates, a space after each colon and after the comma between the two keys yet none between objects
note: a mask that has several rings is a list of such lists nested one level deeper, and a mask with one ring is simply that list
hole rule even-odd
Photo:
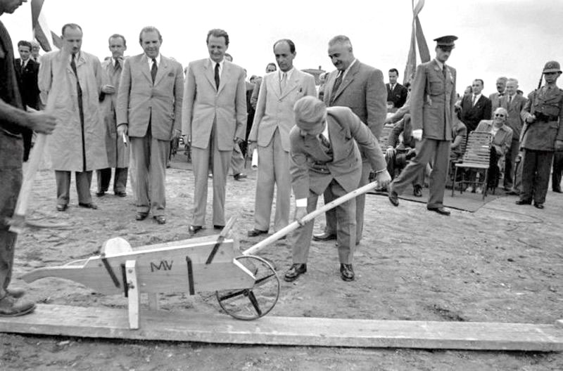
[{"label": "grey-haired man in grey suit standing directly behind the bending man", "polygon": [[[329,58],[336,71],[329,74],[324,86],[324,103],[327,107],[341,105],[348,107],[379,140],[387,115],[387,89],[383,73],[377,68],[361,63],[354,57],[352,43],[348,37],[339,35],[329,41]],[[361,151],[360,151],[361,152]],[[362,152],[363,166],[359,186],[367,184],[371,167]],[[324,202],[332,200],[324,197]],[[365,195],[356,197],[356,226],[360,243],[364,226]],[[315,240],[334,240],[336,238],[336,211],[327,211],[327,228],[324,233],[315,235]]]}]

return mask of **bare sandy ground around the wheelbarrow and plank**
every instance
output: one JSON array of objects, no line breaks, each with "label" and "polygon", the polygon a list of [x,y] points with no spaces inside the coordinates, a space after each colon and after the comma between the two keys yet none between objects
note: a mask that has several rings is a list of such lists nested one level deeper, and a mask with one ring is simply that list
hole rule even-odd
[{"label": "bare sandy ground around the wheelbarrow and plank", "polygon": [[[177,160],[182,160],[182,155]],[[253,227],[255,172],[227,184],[227,218],[239,214],[234,233],[243,249],[260,238]],[[95,177],[94,177],[95,178]],[[95,184],[95,179],[93,181]],[[31,219],[65,221],[68,230],[26,230],[20,235],[14,285],[46,304],[126,307],[75,282],[46,278],[26,285],[22,273],[98,254],[109,237],[135,247],[188,238],[193,201],[191,171],[167,171],[167,219],[134,221],[134,200],[113,194],[94,200],[96,211],[77,207],[75,190],[65,213],[55,211],[55,182],[41,171]],[[94,186],[92,187],[94,190]],[[313,242],[308,273],[281,281],[269,315],[380,320],[454,320],[554,323],[563,318],[563,195],[548,193],[544,210],[500,197],[479,211],[448,217],[424,204],[368,195],[365,231],[355,254],[354,282],[343,282],[334,242]],[[210,220],[205,234],[216,233]],[[321,230],[324,220],[317,220]],[[291,263],[291,242],[271,245],[262,256],[278,274]],[[163,297],[163,311],[219,311],[210,295]],[[62,319],[61,319],[62,320]],[[0,370],[563,370],[561,353],[216,346],[158,341],[108,341],[0,334]]]}]

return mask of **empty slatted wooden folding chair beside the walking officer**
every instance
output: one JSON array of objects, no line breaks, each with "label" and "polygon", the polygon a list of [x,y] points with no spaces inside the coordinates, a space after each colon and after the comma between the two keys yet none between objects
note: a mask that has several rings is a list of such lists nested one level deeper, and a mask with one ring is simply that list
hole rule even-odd
[{"label": "empty slatted wooden folding chair beside the walking officer", "polygon": [[[467,138],[467,147],[462,158],[462,162],[455,164],[455,172],[453,176],[452,197],[455,192],[455,186],[460,186],[460,193],[463,193],[464,184],[476,183],[483,190],[483,200],[487,195],[487,176],[489,162],[491,161],[491,133],[484,131],[472,131]],[[463,168],[462,180],[456,181],[457,169]],[[483,171],[483,177],[479,182],[465,180],[467,170],[475,170],[478,173]]]}]

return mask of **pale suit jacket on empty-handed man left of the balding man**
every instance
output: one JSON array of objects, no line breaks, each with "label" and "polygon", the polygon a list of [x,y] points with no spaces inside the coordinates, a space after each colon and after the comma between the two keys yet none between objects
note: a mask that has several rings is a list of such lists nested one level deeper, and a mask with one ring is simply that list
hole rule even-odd
[{"label": "pale suit jacket on empty-handed man left of the balding man", "polygon": [[246,84],[242,67],[224,60],[219,89],[210,59],[188,65],[184,89],[182,132],[191,145],[208,148],[213,122],[217,122],[219,150],[232,150],[234,138],[246,134]]}]

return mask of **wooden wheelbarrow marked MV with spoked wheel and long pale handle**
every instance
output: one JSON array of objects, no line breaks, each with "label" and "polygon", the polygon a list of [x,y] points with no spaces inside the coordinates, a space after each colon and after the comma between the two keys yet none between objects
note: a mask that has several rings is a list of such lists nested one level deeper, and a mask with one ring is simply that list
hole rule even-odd
[{"label": "wooden wheelbarrow marked MV with spoked wheel and long pale handle", "polygon": [[25,282],[58,277],[79,282],[101,294],[123,294],[128,299],[129,328],[139,328],[139,299],[148,294],[148,305],[158,309],[158,293],[215,292],[220,307],[240,320],[266,315],[279,298],[279,278],[265,259],[255,254],[272,242],[296,230],[316,216],[353,197],[372,190],[369,183],[344,195],[240,255],[239,242],[230,236],[231,218],[219,235],[135,247],[121,237],[103,244],[101,254],[72,261],[64,266],[37,268],[23,275]]}]

